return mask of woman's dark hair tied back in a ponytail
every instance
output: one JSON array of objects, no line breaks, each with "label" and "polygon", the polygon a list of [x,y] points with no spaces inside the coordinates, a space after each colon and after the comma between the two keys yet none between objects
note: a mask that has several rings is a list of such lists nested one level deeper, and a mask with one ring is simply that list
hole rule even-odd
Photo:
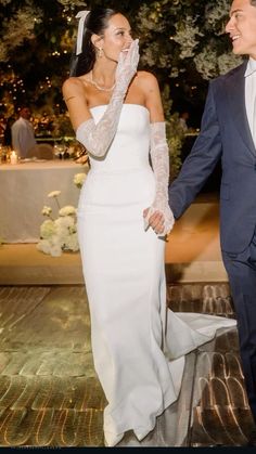
[{"label": "woman's dark hair tied back in a ponytail", "polygon": [[82,52],[76,55],[76,47],[73,51],[69,73],[71,76],[82,76],[89,73],[95,63],[95,48],[91,42],[92,35],[103,35],[108,26],[108,21],[117,14],[117,11],[105,8],[93,8],[86,17],[82,34]]}]

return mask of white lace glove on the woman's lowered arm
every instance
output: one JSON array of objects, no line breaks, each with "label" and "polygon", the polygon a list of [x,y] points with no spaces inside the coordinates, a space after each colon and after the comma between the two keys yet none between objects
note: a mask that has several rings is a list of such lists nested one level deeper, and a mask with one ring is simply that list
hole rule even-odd
[{"label": "white lace glove on the woman's lowered arm", "polygon": [[175,218],[168,204],[169,156],[164,121],[151,124],[150,155],[155,174],[155,198],[144,222],[146,228],[150,217],[159,211],[164,216],[164,232],[158,236],[165,236],[171,231]]}]

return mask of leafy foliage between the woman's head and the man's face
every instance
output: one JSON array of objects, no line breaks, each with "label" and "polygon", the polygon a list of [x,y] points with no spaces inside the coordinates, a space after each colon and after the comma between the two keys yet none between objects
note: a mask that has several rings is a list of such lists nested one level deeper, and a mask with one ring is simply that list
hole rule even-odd
[{"label": "leafy foliage between the woman's head and the man's face", "polygon": [[169,83],[174,109],[204,104],[208,79],[236,66],[225,24],[230,0],[144,1],[136,16],[141,65]]}]

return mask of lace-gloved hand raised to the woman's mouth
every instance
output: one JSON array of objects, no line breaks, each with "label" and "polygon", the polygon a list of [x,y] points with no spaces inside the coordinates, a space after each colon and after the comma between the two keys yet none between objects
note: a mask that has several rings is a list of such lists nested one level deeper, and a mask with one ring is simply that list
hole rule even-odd
[{"label": "lace-gloved hand raised to the woman's mouth", "polygon": [[137,73],[139,63],[139,39],[130,44],[128,52],[120,52],[116,68],[116,85],[120,89],[127,88]]}]

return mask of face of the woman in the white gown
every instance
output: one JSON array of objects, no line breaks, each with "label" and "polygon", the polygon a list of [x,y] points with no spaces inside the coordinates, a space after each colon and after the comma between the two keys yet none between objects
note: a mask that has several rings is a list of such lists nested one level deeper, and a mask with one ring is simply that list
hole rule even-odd
[{"label": "face of the woman in the white gown", "polygon": [[132,42],[130,24],[123,14],[115,14],[104,30],[102,49],[106,59],[118,61],[120,52],[127,52]]}]

